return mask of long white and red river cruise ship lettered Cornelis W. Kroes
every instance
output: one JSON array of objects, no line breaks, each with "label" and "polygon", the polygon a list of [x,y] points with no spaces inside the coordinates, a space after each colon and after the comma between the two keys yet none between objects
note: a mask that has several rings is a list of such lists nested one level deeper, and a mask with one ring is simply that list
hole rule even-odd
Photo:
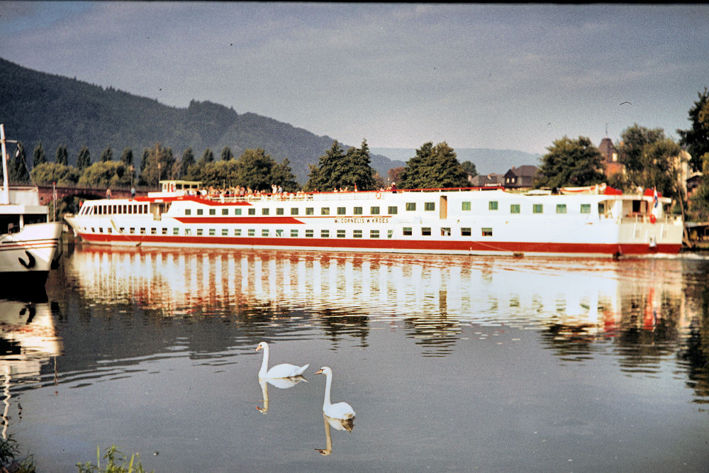
[{"label": "long white and red river cruise ship lettered Cornelis W. Kroes", "polygon": [[162,181],[135,199],[84,201],[67,215],[84,242],[459,255],[618,257],[675,254],[683,221],[652,189],[604,184],[515,193],[493,189],[206,196]]}]

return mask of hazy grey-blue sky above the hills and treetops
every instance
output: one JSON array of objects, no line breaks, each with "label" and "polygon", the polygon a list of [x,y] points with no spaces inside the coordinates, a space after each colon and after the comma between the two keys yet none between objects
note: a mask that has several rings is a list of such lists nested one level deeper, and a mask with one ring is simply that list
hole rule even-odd
[{"label": "hazy grey-blue sky above the hills and treetops", "polygon": [[679,138],[709,87],[709,6],[0,1],[0,57],[347,145],[543,154],[606,123]]}]

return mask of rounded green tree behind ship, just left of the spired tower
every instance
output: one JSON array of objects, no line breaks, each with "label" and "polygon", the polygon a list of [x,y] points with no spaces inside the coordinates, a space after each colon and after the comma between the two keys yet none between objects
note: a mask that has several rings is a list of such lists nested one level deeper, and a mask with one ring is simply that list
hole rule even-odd
[{"label": "rounded green tree behind ship, just left of the spired tower", "polygon": [[564,136],[547,150],[535,187],[590,186],[603,182],[603,156],[590,139],[579,136],[578,140],[571,140]]}]

